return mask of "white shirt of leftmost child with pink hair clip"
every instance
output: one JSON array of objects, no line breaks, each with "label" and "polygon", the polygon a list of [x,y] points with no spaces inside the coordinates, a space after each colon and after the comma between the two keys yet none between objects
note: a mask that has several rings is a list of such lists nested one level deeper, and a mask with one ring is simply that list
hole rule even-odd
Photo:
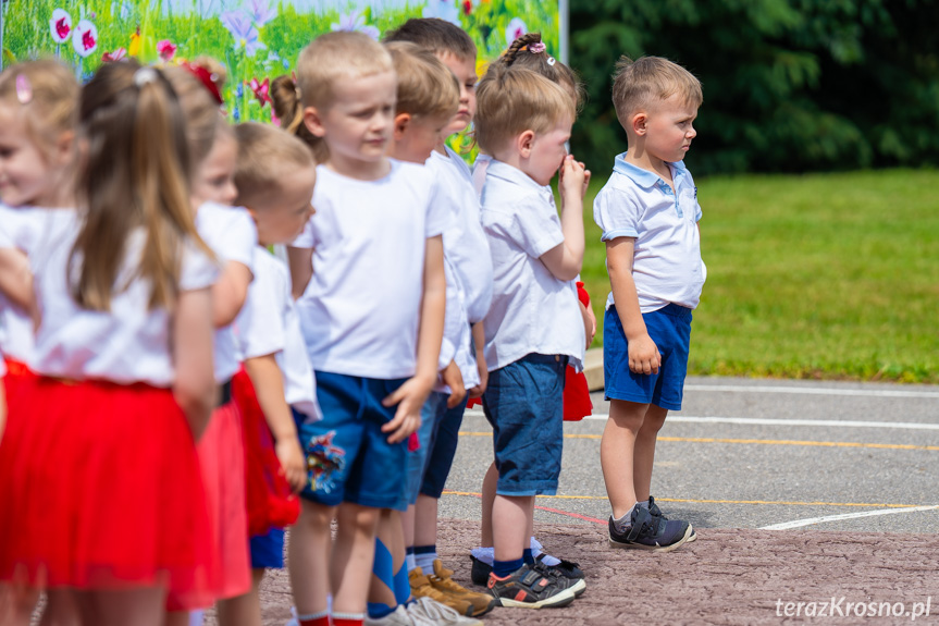
[{"label": "white shirt of leftmost child with pink hair clip", "polygon": [[[18,249],[32,258],[36,246],[54,230],[54,223],[73,224],[74,221],[74,209],[0,205],[0,247]],[[34,335],[29,315],[0,294],[0,347],[3,353],[20,363],[29,363]]]}]

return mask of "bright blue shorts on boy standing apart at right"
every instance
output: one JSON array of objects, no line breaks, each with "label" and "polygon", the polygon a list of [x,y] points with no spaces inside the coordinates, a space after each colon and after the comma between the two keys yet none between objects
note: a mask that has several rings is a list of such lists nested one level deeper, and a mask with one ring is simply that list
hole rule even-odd
[{"label": "bright blue shorts on boy standing apart at right", "polygon": [[603,320],[603,378],[606,400],[654,404],[681,410],[688,349],[691,344],[691,309],[669,304],[642,314],[648,336],[662,353],[658,373],[629,370],[629,346],[616,307],[606,309]]}]

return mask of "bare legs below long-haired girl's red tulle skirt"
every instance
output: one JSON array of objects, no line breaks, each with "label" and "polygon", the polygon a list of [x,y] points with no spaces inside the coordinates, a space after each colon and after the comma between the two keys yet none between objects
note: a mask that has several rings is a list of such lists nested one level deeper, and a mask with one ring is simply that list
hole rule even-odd
[{"label": "bare legs below long-haired girl's red tulle skirt", "polygon": [[144,587],[129,591],[75,591],[83,624],[95,626],[162,626],[166,591]]}]

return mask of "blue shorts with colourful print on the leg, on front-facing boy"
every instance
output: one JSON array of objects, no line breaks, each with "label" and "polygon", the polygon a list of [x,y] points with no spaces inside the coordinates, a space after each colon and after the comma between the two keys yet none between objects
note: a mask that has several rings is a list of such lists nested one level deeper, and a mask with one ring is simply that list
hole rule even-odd
[{"label": "blue shorts with colourful print on the leg, on front-facing boy", "polygon": [[398,503],[407,472],[407,440],[388,443],[381,428],[397,406],[382,400],[406,379],[380,380],[316,372],[319,421],[296,420],[307,457],[307,500],[335,506],[343,502],[390,508]]}]

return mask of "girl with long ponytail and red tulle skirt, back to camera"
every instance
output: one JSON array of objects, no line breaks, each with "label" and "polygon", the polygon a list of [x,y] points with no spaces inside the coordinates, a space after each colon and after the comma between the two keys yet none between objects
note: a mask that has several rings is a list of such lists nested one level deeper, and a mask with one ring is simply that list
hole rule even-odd
[{"label": "girl with long ponytail and red tulle skirt, back to camera", "polygon": [[168,590],[207,602],[194,439],[215,391],[218,268],[193,224],[183,115],[160,71],[106,64],[81,123],[81,216],[30,255],[39,378],[0,472],[14,512],[0,579],[71,588],[83,624],[156,626]]}]

